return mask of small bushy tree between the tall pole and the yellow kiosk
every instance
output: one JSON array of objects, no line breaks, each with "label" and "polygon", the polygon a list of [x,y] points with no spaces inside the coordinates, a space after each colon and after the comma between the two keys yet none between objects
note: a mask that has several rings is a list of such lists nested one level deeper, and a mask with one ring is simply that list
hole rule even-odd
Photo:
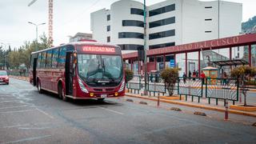
[{"label": "small bushy tree between the tall pole and the yellow kiosk", "polygon": [[162,70],[161,77],[166,83],[169,95],[172,96],[174,94],[175,83],[178,80],[178,68],[166,68]]}]

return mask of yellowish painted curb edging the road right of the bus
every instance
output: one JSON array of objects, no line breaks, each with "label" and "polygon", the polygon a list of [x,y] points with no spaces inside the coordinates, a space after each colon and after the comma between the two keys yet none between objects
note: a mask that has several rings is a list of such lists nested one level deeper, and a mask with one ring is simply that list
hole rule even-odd
[{"label": "yellowish painted curb edging the road right of the bus", "polygon": [[[137,96],[134,94],[126,94],[126,96],[147,99],[147,100],[151,100],[151,101],[155,101],[155,102],[158,101],[158,99],[156,99],[156,98],[147,98],[147,97],[143,97],[143,96]],[[190,107],[201,108],[201,109],[206,109],[206,110],[215,110],[215,111],[225,112],[225,109],[222,109],[222,108],[202,106],[202,105],[190,104],[190,103],[185,103],[185,102],[177,102],[177,101],[171,101],[171,100],[165,100],[165,99],[160,99],[160,102],[166,102],[166,103],[171,103],[171,104],[176,104],[176,105],[190,106]],[[246,116],[250,116],[250,117],[256,117],[256,114],[238,111],[238,110],[230,110],[229,109],[229,113],[246,115]]]}]

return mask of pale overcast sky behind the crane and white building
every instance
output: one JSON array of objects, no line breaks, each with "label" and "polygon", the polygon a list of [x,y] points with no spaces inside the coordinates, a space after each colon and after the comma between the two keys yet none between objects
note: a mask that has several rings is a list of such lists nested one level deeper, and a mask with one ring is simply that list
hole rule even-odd
[{"label": "pale overcast sky behind the crane and white building", "polygon": [[[38,36],[48,36],[48,0],[38,0],[32,6],[32,0],[0,0],[0,46],[12,49],[31,42],[36,38],[36,27],[28,22],[46,25],[38,26]],[[91,33],[90,13],[110,5],[118,0],[54,0],[54,46],[69,42],[69,37],[78,32]],[[143,2],[143,0],[136,0]],[[146,0],[146,5],[164,0]],[[210,0],[202,0],[210,1]],[[242,3],[242,22],[256,15],[255,0],[226,0]]]}]

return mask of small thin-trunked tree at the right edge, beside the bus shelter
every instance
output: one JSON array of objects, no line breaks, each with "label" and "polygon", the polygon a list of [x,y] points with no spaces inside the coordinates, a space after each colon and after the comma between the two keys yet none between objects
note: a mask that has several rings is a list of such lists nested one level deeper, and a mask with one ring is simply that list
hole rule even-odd
[{"label": "small thin-trunked tree at the right edge, beside the bus shelter", "polygon": [[239,66],[231,70],[231,77],[238,78],[238,82],[241,83],[242,87],[242,94],[244,95],[244,106],[247,106],[246,103],[246,90],[245,90],[245,83],[246,80],[249,80],[256,75],[256,68],[250,66]]}]

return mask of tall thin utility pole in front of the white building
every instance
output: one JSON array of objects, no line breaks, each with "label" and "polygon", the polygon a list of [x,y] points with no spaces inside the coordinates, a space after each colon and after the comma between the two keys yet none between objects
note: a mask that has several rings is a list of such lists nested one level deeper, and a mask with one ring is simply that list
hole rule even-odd
[{"label": "tall thin utility pole in front of the white building", "polygon": [[144,0],[144,95],[147,95],[146,90],[146,81],[147,81],[147,73],[146,73],[146,0]]}]

